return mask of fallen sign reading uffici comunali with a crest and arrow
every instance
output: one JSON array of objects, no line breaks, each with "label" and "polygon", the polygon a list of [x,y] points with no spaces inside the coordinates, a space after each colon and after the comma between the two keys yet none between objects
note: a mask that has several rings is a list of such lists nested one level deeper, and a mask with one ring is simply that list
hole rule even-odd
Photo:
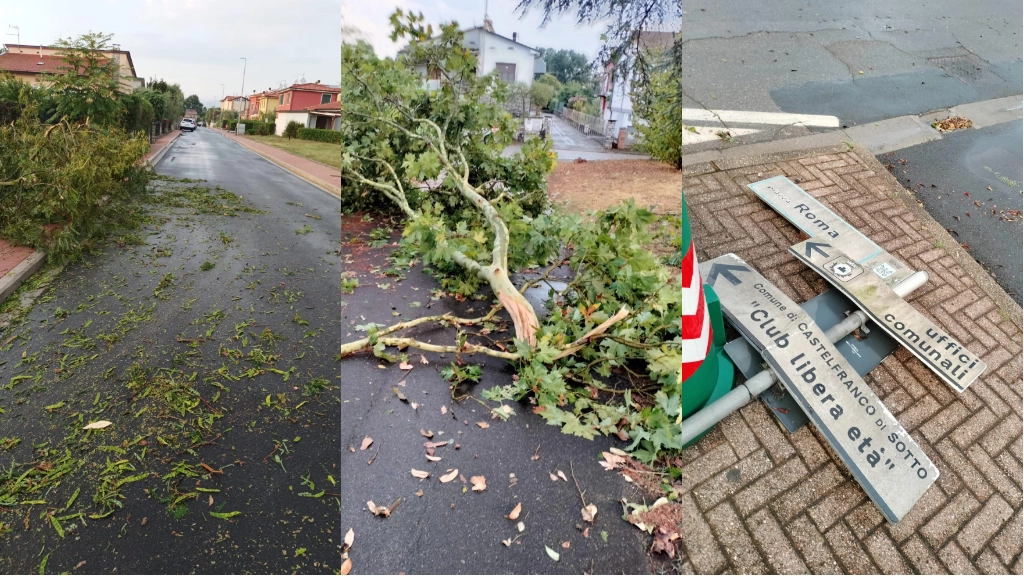
[{"label": "fallen sign reading uffici comunali with a crest and arrow", "polygon": [[966,390],[985,371],[984,361],[843,250],[826,242],[807,240],[792,246],[790,252],[846,294],[957,393]]}]

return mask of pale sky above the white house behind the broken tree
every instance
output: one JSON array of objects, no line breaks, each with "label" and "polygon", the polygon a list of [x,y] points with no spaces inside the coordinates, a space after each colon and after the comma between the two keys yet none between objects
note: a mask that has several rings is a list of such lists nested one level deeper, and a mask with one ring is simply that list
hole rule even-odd
[{"label": "pale sky above the white house behind the broken tree", "polygon": [[[483,24],[484,0],[341,0],[342,19],[346,27],[358,30],[365,40],[373,44],[378,55],[393,56],[404,42],[391,42],[388,16],[396,7],[423,12],[427,22],[437,24],[457,20],[463,29]],[[515,12],[518,0],[488,0],[487,13],[495,25],[495,32],[507,38],[519,33],[518,41],[534,47],[571,49],[588,58],[597,57],[601,51],[601,34],[604,25],[577,27],[575,18],[556,16],[541,28],[544,14],[532,9],[524,17]],[[347,35],[346,35],[347,39]]]}]

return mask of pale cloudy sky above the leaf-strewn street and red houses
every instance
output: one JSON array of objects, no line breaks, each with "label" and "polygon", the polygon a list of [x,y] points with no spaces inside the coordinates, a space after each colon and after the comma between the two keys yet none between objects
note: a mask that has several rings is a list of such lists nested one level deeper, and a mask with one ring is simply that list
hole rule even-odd
[{"label": "pale cloudy sky above the leaf-strewn street and red houses", "polygon": [[[113,34],[135,73],[178,83],[207,107],[223,93],[276,88],[296,78],[338,85],[340,0],[0,0],[5,44],[52,44]],[[10,34],[10,35],[8,35]]]}]

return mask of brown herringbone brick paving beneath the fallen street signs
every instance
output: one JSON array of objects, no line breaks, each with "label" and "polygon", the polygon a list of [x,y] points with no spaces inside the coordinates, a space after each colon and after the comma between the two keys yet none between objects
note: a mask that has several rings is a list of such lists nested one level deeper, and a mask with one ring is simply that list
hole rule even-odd
[{"label": "brown herringbone brick paving beneath the fallen street signs", "polygon": [[701,260],[734,252],[797,301],[824,292],[825,281],[787,252],[802,240],[797,229],[746,188],[787,176],[928,271],[908,301],[988,370],[956,395],[900,348],[864,378],[941,472],[896,525],[812,426],[791,435],[761,402],[730,415],[683,451],[683,573],[1021,574],[1020,308],[943,247],[948,238],[862,149],[752,162],[684,168]]}]

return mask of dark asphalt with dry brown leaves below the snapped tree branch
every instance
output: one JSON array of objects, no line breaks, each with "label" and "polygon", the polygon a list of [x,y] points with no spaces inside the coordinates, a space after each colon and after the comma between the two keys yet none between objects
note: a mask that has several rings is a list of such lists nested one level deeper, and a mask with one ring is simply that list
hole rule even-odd
[{"label": "dark asphalt with dry brown leaves below the snapped tree branch", "polygon": [[[364,241],[373,228],[385,225],[355,216],[343,221],[342,272],[354,272],[359,281],[352,294],[342,295],[343,342],[362,337],[357,327],[368,322],[391,325],[445,312],[473,316],[488,310],[489,297],[464,302],[452,297],[432,299],[431,290],[437,284],[420,265],[406,271],[400,282],[383,276],[381,272],[388,268],[386,256],[393,248],[370,248]],[[354,243],[350,242],[353,238]],[[511,330],[510,325],[504,328]],[[456,337],[453,330],[436,328],[410,332],[435,343],[454,342]],[[510,335],[499,331],[490,337]],[[350,551],[353,574],[651,571],[647,535],[622,520],[620,503],[623,499],[639,502],[643,497],[620,475],[605,471],[598,463],[602,450],[624,447],[625,443],[563,435],[535,415],[525,402],[506,402],[514,415],[507,421],[493,419],[489,409],[472,399],[452,400],[450,385],[438,372],[455,360],[452,355],[445,358],[428,353],[422,358],[429,364],[423,364],[419,353],[406,352],[412,365],[408,371],[398,363],[388,365],[366,353],[341,362],[341,529],[354,533]],[[475,356],[463,360],[482,366],[483,376],[478,384],[460,389],[460,394],[480,399],[483,390],[509,383],[513,375],[503,360]],[[408,402],[399,400],[392,388]],[[416,409],[413,402],[418,404]],[[432,433],[433,438],[424,438],[421,429]],[[368,437],[373,444],[361,450]],[[458,448],[437,448],[435,455],[441,460],[428,461],[424,443],[449,439]],[[414,478],[414,468],[430,472],[430,478]],[[461,478],[442,484],[439,477],[449,468],[458,468]],[[567,482],[551,480],[550,475],[558,470]],[[594,524],[587,525],[586,537],[578,528],[586,523],[581,519],[583,503],[572,470],[587,503],[598,508]],[[510,475],[515,475],[514,479]],[[483,492],[469,490],[467,481],[475,476],[486,479]],[[369,501],[391,506],[399,498],[401,502],[388,518],[376,517],[368,507]],[[506,515],[518,503],[522,504],[518,520],[507,520]],[[522,532],[517,522],[523,523]],[[503,540],[512,543],[505,546]],[[568,548],[563,547],[564,542]],[[560,560],[551,560],[545,546],[559,552]]]}]

